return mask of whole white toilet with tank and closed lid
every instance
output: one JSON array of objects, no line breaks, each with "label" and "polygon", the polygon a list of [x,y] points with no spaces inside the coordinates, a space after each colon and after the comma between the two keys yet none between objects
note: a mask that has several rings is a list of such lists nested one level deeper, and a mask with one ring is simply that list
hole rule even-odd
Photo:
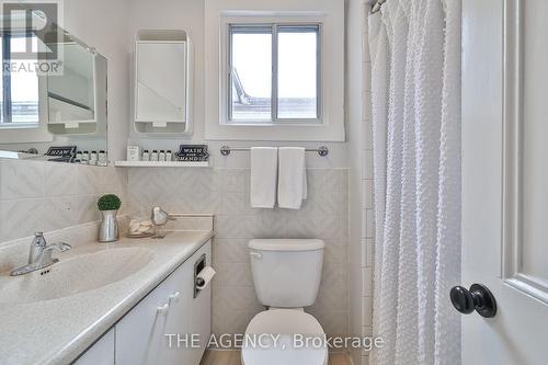
[{"label": "whole white toilet with tank and closed lid", "polygon": [[[242,364],[328,363],[326,333],[318,320],[304,311],[318,295],[323,248],[323,241],[317,239],[255,239],[249,242],[256,296],[269,310],[253,317],[246,329],[246,339],[263,341],[244,341]],[[274,343],[274,337],[269,334],[279,335],[277,342]]]}]

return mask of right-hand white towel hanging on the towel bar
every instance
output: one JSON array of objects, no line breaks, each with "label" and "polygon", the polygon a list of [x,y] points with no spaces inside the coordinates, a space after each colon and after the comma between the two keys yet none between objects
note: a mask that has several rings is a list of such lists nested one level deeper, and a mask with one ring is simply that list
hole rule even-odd
[{"label": "right-hand white towel hanging on the towel bar", "polygon": [[281,147],[278,150],[277,202],[281,208],[300,209],[307,197],[305,149]]}]

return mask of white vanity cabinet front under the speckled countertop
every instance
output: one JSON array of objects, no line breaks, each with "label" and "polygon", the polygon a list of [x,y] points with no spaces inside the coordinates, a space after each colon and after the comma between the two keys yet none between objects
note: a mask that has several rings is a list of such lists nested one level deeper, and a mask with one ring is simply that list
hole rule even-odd
[{"label": "white vanity cabinet front under the speckled countertop", "polygon": [[[210,334],[212,289],[209,284],[194,297],[194,274],[197,263],[204,261],[204,265],[210,265],[210,256],[212,244],[208,241],[142,298],[75,364],[198,365]],[[111,335],[111,332],[114,334]],[[201,341],[196,347],[185,346],[183,343],[189,334],[187,343],[191,344],[192,333],[199,334]],[[172,346],[167,334],[173,334]]]}]

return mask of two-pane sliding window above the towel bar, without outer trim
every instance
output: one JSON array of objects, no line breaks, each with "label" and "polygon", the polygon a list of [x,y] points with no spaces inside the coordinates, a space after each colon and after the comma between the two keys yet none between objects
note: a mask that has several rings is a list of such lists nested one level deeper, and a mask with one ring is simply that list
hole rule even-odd
[{"label": "two-pane sliding window above the towel bar, without outer trim", "polygon": [[228,26],[228,122],[319,123],[320,24]]}]

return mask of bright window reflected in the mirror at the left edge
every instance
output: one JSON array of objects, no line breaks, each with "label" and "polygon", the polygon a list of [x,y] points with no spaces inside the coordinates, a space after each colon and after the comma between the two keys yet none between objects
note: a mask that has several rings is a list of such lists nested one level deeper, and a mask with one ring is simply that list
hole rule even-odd
[{"label": "bright window reflected in the mirror at the left edge", "polygon": [[[37,38],[31,35],[32,47],[37,47]],[[36,59],[12,62],[11,52],[24,52],[25,34],[0,36],[0,58],[2,60],[2,82],[0,88],[0,127],[36,127],[38,125],[38,77],[30,67]]]}]

